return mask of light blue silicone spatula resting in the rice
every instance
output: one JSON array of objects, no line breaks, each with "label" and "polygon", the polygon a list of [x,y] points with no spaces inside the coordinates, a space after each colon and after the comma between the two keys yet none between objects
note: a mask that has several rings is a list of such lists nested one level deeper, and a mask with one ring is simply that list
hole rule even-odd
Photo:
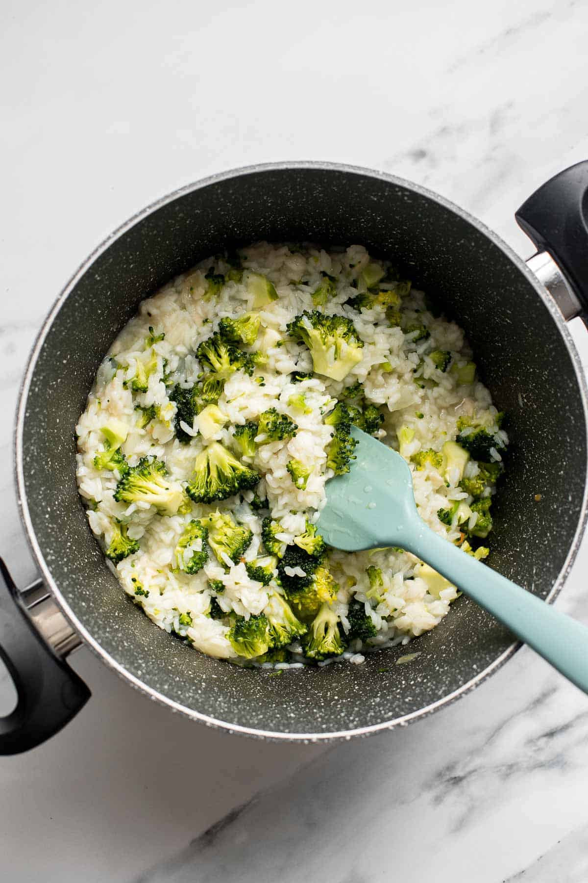
[{"label": "light blue silicone spatula resting in the rice", "polygon": [[318,531],[346,552],[399,546],[417,555],[588,692],[588,628],[432,531],[418,514],[406,461],[355,426],[351,472],[327,484]]}]

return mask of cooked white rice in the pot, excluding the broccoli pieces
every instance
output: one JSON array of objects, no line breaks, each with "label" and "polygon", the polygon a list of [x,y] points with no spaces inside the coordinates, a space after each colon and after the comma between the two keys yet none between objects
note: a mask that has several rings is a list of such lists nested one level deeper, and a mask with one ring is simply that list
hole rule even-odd
[{"label": "cooked white rice in the pot, excluding the broccoli pieces", "polygon": [[[325,483],[333,474],[325,466],[325,452],[333,427],[324,423],[324,415],[336,400],[345,397],[347,387],[360,381],[367,401],[382,406],[385,419],[379,437],[384,443],[398,449],[400,427],[413,431],[413,436],[403,445],[402,454],[413,471],[414,494],[421,517],[450,542],[463,540],[463,524],[458,525],[454,519],[448,526],[437,517],[439,509],[448,509],[454,502],[473,502],[459,487],[460,475],[455,470],[444,472],[432,464],[417,469],[411,462],[411,457],[420,450],[440,451],[444,442],[455,439],[459,417],[475,416],[491,427],[497,445],[492,451],[495,460],[501,458],[498,448],[508,442],[498,427],[497,412],[488,389],[476,380],[460,382],[457,371],[437,370],[428,358],[431,351],[450,351],[451,366],[463,366],[472,353],[461,328],[431,313],[421,291],[412,290],[403,298],[401,325],[406,329],[411,323],[423,324],[430,332],[426,340],[415,341],[414,333],[391,325],[383,308],[376,306],[358,311],[349,306],[348,299],[354,298],[358,289],[361,291],[361,272],[370,260],[361,245],[327,252],[313,246],[294,248],[260,243],[242,249],[241,260],[243,268],[267,276],[279,298],[260,311],[261,331],[255,348],[266,353],[267,364],[257,366],[252,376],[237,371],[227,380],[218,403],[227,422],[213,438],[232,449],[232,426],[256,420],[270,407],[276,407],[297,424],[299,428],[293,438],[260,444],[249,463],[262,476],[257,494],[267,499],[272,517],[280,520],[281,539],[291,543],[294,536],[304,531],[306,519],[316,518],[317,511],[324,506]],[[386,261],[380,264],[384,269],[389,267]],[[124,591],[143,607],[153,623],[188,638],[203,653],[237,660],[227,638],[231,616],[259,615],[268,605],[272,592],[280,592],[275,579],[264,586],[249,578],[245,567],[245,562],[264,554],[260,540],[262,516],[249,506],[252,492],[245,491],[212,505],[192,503],[191,510],[183,515],[160,515],[145,502],[130,505],[115,502],[119,473],[100,470],[94,465],[94,457],[105,448],[101,427],[108,419],[115,418],[128,430],[122,451],[131,467],[140,457],[154,456],[166,464],[171,481],[185,487],[190,479],[195,457],[211,439],[203,441],[195,419],[192,426],[182,424],[190,442],[178,441],[176,404],[169,397],[171,390],[175,384],[188,388],[197,381],[202,372],[195,356],[197,345],[211,336],[220,319],[239,316],[252,308],[252,297],[244,281],[227,281],[220,293],[205,297],[205,274],[211,268],[214,273],[227,274],[229,265],[223,258],[205,260],[189,273],[167,283],[140,305],[138,314],[112,344],[77,427],[78,487],[88,506],[89,524],[103,547],[108,547],[117,522],[128,525],[128,536],[138,540],[138,552],[119,562],[115,572]],[[293,383],[293,372],[312,371],[312,358],[305,345],[287,335],[287,323],[303,310],[316,308],[312,293],[324,280],[322,274],[334,277],[336,295],[320,308],[354,322],[364,343],[361,361],[343,381],[316,374]],[[155,336],[165,335],[153,343],[151,350],[145,343],[150,327]],[[125,381],[130,381],[135,374],[138,360],[145,359],[145,348],[157,358],[157,368],[149,377],[147,391],[132,393]],[[288,404],[290,396],[298,393],[304,393],[307,413]],[[138,407],[152,405],[159,408],[158,418],[144,427],[138,426],[141,413]],[[292,458],[312,464],[306,489],[295,487],[287,472],[287,463]],[[477,471],[478,465],[470,460],[465,467],[465,477],[473,478]],[[494,493],[493,488],[486,493]],[[253,539],[244,554],[244,562],[228,558],[219,561],[211,553],[204,568],[190,576],[177,569],[175,547],[191,519],[215,509],[232,512],[234,518],[249,527]],[[471,514],[468,530],[473,529],[477,517],[477,513]],[[190,548],[189,557],[197,551],[196,547]],[[377,598],[373,594],[368,597],[368,565],[382,570],[383,586]],[[340,617],[343,633],[348,630],[347,612],[353,599],[365,605],[376,627],[376,637],[368,644],[351,641],[339,657],[354,663],[363,661],[361,650],[365,653],[370,647],[406,643],[435,628],[458,594],[449,584],[423,578],[426,573],[423,571],[423,576],[420,575],[421,562],[399,549],[354,554],[330,550],[328,567],[339,584],[333,608]],[[210,580],[220,580],[224,586],[222,591],[215,591]],[[227,618],[213,619],[208,615],[212,597],[217,598]],[[191,625],[181,623],[182,615],[188,615],[183,617],[183,622],[191,620]],[[291,651],[291,663],[305,661],[300,643],[291,645]]]}]

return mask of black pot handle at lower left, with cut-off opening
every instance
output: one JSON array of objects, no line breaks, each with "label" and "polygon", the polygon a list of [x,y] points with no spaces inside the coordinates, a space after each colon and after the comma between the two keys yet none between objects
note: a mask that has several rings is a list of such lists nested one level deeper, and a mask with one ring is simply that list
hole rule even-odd
[{"label": "black pot handle at lower left, with cut-off opening", "polygon": [[0,755],[20,754],[71,721],[90,698],[90,691],[34,628],[2,559],[0,656],[19,697],[16,708],[0,717]]}]

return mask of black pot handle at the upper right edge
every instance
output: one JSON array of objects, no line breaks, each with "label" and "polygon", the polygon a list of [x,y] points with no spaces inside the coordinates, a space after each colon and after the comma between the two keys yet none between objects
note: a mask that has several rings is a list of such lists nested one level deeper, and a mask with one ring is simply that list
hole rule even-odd
[{"label": "black pot handle at the upper right edge", "polygon": [[516,215],[539,251],[551,254],[588,314],[588,160],[540,186]]}]

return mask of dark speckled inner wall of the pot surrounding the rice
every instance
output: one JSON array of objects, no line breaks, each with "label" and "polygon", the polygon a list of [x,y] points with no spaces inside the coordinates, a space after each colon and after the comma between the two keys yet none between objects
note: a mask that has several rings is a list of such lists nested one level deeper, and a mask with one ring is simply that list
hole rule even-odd
[{"label": "dark speckled inner wall of the pot surrounding the rice", "polygon": [[[495,501],[489,563],[546,597],[582,514],[586,432],[561,323],[517,260],[471,219],[376,174],[300,166],[205,182],[119,233],[71,284],[33,366],[22,426],[23,485],[40,554],[74,622],[100,653],[196,717],[276,736],[375,728],[438,703],[512,644],[466,597],[421,654],[372,653],[268,678],[195,652],[124,595],[76,487],[75,432],[96,370],[139,300],[197,260],[258,239],[361,243],[394,260],[465,328],[483,381],[508,412],[510,466]],[[21,488],[22,489],[22,488]],[[540,501],[536,495],[540,494]]]}]

